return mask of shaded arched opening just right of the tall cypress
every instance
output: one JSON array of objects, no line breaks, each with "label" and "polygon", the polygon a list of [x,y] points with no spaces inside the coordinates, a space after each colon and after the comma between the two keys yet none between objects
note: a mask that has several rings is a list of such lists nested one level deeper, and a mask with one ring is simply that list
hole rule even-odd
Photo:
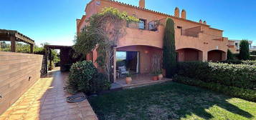
[{"label": "shaded arched opening just right of the tall cypress", "polygon": [[202,51],[198,49],[184,48],[178,49],[178,61],[202,61]]}]

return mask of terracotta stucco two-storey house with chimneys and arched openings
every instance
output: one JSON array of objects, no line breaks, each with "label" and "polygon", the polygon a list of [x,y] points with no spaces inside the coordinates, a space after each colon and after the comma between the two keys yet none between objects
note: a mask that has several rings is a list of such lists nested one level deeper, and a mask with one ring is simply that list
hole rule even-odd
[{"label": "terracotta stucco two-storey house with chimneys and arched openings", "polygon": [[[177,60],[179,61],[221,61],[226,59],[229,47],[228,39],[222,36],[223,31],[214,29],[206,21],[191,21],[186,19],[186,11],[181,12],[178,8],[174,10],[174,16],[163,14],[158,11],[146,9],[145,0],[139,1],[139,6],[120,3],[111,0],[92,0],[85,8],[85,15],[82,19],[77,19],[77,33],[80,33],[85,26],[85,20],[93,14],[97,14],[105,7],[113,7],[119,11],[126,11],[128,16],[136,16],[140,19],[137,26],[126,28],[123,38],[118,41],[115,48],[118,51],[126,52],[127,56],[136,56],[133,69],[138,73],[148,73],[151,71],[151,58],[153,54],[162,51],[164,26],[154,27],[154,21],[165,23],[169,17],[175,23],[175,42]],[[130,52],[129,52],[130,51]],[[118,56],[117,56],[118,57]],[[95,61],[97,51],[87,55],[87,59]],[[116,58],[114,61],[117,61]],[[114,62],[116,66],[116,62]],[[114,67],[115,69],[116,67]],[[115,71],[114,71],[115,72]]]}]

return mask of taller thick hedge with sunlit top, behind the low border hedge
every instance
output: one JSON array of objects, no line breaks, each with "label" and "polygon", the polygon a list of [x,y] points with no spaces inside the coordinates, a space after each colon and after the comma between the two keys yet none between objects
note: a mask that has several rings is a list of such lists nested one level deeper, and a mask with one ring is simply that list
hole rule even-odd
[{"label": "taller thick hedge with sunlit top, behind the low border hedge", "polygon": [[177,74],[225,86],[256,89],[256,66],[247,64],[179,62]]}]

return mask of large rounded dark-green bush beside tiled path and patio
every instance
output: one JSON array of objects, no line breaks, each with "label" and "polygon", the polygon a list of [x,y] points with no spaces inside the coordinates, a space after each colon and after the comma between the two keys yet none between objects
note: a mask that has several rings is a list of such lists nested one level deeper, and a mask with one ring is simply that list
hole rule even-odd
[{"label": "large rounded dark-green bush beside tiled path and patio", "polygon": [[78,61],[71,66],[66,88],[71,93],[82,91],[90,94],[108,89],[109,84],[105,76],[98,73],[92,61]]}]

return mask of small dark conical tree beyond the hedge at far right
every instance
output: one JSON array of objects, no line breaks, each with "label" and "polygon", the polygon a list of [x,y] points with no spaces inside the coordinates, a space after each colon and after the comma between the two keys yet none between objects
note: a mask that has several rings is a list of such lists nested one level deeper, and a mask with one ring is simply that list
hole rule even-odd
[{"label": "small dark conical tree beyond the hedge at far right", "polygon": [[247,40],[240,41],[240,59],[248,60],[250,59],[250,51],[249,51],[249,42]]}]

